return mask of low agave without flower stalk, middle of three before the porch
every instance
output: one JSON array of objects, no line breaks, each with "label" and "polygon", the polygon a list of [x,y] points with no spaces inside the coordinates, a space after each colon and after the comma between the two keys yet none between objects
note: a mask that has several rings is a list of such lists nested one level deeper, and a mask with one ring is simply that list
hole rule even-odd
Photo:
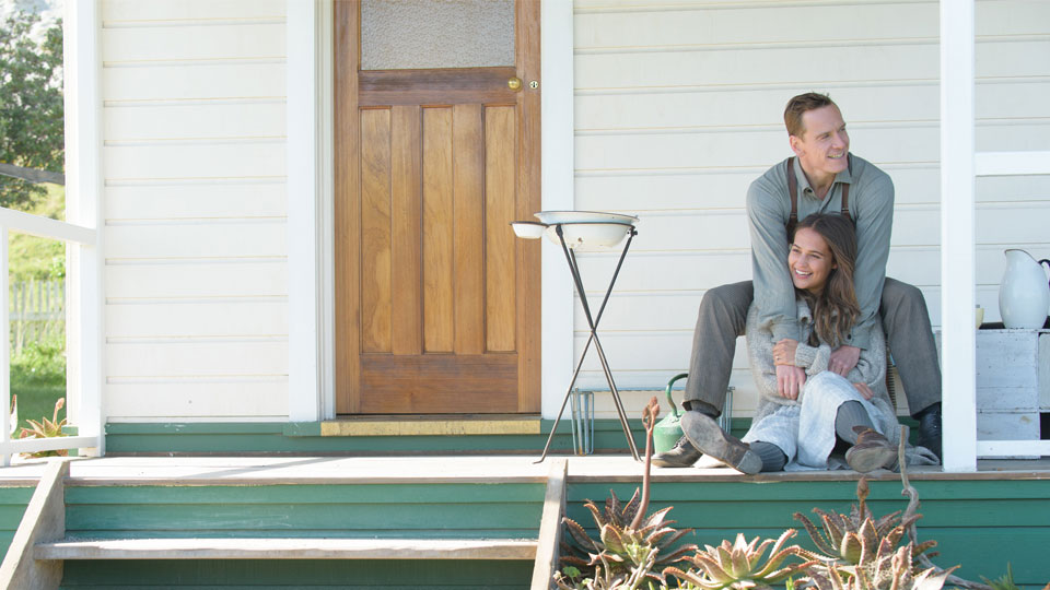
[{"label": "low agave without flower stalk, middle of three before the porch", "polygon": [[[703,590],[770,588],[817,563],[817,559],[809,559],[804,563],[783,565],[791,556],[810,557],[808,552],[797,545],[783,546],[795,535],[795,532],[794,529],[788,529],[775,542],[767,539],[761,543],[757,536],[748,543],[744,539],[744,533],[737,533],[736,542],[733,544],[722,541],[722,544],[716,547],[704,545],[703,552],[687,557],[686,560],[696,566],[695,569],[682,571],[677,567],[668,567],[664,569],[664,575],[674,576]],[[763,558],[770,545],[772,548],[769,557]]]}]

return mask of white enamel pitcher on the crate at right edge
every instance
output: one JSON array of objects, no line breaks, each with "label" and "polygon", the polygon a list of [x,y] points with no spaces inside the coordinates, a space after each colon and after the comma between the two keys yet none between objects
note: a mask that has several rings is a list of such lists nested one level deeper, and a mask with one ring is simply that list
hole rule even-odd
[{"label": "white enamel pitcher on the crate at right edge", "polygon": [[1025,250],[1011,248],[1006,255],[1006,272],[999,287],[999,311],[1006,328],[1042,328],[1050,308],[1050,282],[1042,263]]}]

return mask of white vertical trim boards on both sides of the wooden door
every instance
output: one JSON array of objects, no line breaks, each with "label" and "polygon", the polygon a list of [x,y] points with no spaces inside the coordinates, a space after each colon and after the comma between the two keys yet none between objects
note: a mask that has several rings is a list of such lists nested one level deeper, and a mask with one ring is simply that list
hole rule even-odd
[{"label": "white vertical trim boards on both sides of the wooden door", "polygon": [[[573,9],[540,1],[541,200],[573,209]],[[289,420],[336,416],[332,72],[334,0],[287,0]],[[555,256],[558,255],[558,256]],[[541,255],[542,415],[572,375],[572,282],[563,255]]]}]

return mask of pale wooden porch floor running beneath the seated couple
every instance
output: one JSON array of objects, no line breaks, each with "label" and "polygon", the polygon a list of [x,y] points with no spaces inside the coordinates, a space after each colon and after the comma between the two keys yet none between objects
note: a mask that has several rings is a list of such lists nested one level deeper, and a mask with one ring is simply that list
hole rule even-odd
[{"label": "pale wooden porch floor running beneath the seated couple", "polygon": [[[106,457],[72,459],[69,479],[77,485],[298,484],[544,482],[552,461],[568,461],[574,482],[640,482],[642,463],[628,456],[551,456],[535,463],[534,456],[432,457]],[[39,480],[47,460],[0,468],[0,485],[26,485]],[[653,468],[654,483],[670,482],[833,482],[855,481],[853,471],[809,471],[743,475],[725,468]],[[915,481],[1050,480],[1050,458],[981,460],[973,473],[945,473],[940,467],[909,469]],[[868,480],[897,481],[889,471]]]}]

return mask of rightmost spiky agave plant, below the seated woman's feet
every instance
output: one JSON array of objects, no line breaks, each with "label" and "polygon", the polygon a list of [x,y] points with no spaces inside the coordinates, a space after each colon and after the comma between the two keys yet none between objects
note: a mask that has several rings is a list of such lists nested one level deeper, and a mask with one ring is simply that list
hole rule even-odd
[{"label": "rightmost spiky agave plant, below the seated woman's feet", "polygon": [[[806,528],[822,560],[837,565],[866,566],[874,563],[884,545],[887,545],[889,551],[896,551],[908,527],[922,518],[922,515],[915,514],[901,520],[901,512],[898,510],[876,519],[867,508],[868,493],[867,480],[861,477],[856,484],[858,504],[852,505],[849,515],[814,508],[813,511],[820,516],[821,529],[818,529],[802,512],[795,512],[795,519]],[[914,558],[936,544],[936,541],[925,541],[907,546],[910,547],[911,557]]]}]

